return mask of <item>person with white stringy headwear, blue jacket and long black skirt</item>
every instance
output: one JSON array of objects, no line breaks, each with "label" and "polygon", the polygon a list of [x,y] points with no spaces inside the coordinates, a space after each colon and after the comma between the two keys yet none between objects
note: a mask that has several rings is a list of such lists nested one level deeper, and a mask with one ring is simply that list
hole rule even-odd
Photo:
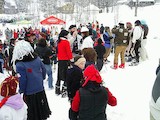
[{"label": "person with white stringy headwear, blue jacket and long black skirt", "polygon": [[46,69],[30,43],[18,41],[13,50],[13,68],[19,76],[19,92],[28,106],[27,120],[45,120],[51,115],[43,80]]}]

